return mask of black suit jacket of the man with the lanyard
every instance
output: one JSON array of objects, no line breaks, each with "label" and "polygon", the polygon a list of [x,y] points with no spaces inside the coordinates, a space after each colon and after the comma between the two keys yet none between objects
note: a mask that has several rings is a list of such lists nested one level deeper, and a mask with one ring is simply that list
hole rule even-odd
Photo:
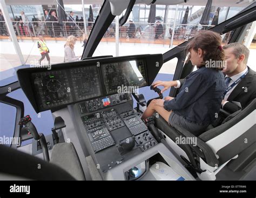
[{"label": "black suit jacket of the man with the lanyard", "polygon": [[[183,85],[184,79],[180,79],[179,81],[180,86]],[[227,112],[234,113],[240,110],[240,107],[232,103],[232,101],[239,102],[242,108],[245,108],[254,98],[256,98],[256,72],[248,67],[248,73],[231,92],[227,98],[230,103],[226,103],[223,109]]]}]

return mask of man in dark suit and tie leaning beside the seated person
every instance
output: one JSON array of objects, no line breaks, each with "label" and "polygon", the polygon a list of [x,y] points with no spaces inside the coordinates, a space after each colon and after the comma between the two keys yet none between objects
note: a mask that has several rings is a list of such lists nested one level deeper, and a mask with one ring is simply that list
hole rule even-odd
[{"label": "man in dark suit and tie leaning beside the seated person", "polygon": [[[234,113],[245,108],[256,98],[256,72],[246,66],[250,51],[241,43],[231,43],[223,46],[226,68],[223,70],[227,90],[221,103],[223,110]],[[158,81],[154,86],[164,86],[163,91],[171,86],[179,88],[184,79],[175,81]],[[165,97],[169,100],[172,97]]]}]

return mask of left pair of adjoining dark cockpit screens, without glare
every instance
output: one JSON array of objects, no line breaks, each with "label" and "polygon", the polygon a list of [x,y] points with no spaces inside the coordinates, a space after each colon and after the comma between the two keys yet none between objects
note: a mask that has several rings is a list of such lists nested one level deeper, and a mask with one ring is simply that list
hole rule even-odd
[{"label": "left pair of adjoining dark cockpit screens, without glare", "polygon": [[32,73],[40,110],[102,95],[97,66]]}]

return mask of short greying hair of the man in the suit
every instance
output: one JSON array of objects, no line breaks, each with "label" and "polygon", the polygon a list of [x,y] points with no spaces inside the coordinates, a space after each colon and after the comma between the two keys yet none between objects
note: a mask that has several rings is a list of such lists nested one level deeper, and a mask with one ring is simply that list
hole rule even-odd
[{"label": "short greying hair of the man in the suit", "polygon": [[223,46],[223,49],[233,48],[235,58],[239,58],[242,54],[245,55],[244,63],[247,64],[250,55],[250,50],[242,43],[230,43]]}]

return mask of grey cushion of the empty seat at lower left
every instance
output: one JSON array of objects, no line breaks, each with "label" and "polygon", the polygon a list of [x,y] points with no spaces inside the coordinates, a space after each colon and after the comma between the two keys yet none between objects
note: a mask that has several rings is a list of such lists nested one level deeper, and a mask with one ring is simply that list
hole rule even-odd
[{"label": "grey cushion of the empty seat at lower left", "polygon": [[53,146],[50,162],[66,170],[76,180],[85,180],[76,148],[72,143],[64,142]]}]

